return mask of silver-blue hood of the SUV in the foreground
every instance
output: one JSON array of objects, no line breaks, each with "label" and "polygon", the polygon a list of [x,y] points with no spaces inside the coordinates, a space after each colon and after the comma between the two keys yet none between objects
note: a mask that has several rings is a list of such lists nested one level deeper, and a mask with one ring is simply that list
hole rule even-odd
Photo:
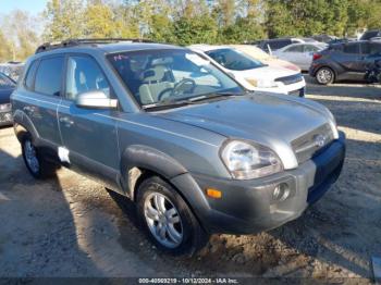
[{"label": "silver-blue hood of the SUV in the foreground", "polygon": [[171,109],[157,115],[197,126],[226,138],[250,140],[273,149],[285,169],[297,166],[291,142],[330,122],[319,108],[282,96],[253,94]]}]

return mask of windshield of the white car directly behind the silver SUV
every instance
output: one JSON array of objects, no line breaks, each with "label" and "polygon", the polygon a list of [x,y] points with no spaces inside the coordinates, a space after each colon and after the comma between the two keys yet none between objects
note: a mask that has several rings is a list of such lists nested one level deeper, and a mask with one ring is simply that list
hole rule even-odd
[{"label": "windshield of the white car directly behind the silver SUV", "polygon": [[247,71],[265,66],[260,61],[234,49],[216,49],[206,53],[223,67],[232,71]]}]

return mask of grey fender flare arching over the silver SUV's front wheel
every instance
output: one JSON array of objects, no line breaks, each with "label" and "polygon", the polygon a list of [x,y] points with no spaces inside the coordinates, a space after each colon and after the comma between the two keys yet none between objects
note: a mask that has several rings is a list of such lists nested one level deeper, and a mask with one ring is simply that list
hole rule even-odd
[{"label": "grey fender flare arching over the silver SUV's front wheel", "polygon": [[127,147],[121,161],[122,186],[126,195],[134,200],[135,185],[142,170],[151,171],[163,178],[171,178],[187,173],[187,170],[167,153],[143,145]]}]

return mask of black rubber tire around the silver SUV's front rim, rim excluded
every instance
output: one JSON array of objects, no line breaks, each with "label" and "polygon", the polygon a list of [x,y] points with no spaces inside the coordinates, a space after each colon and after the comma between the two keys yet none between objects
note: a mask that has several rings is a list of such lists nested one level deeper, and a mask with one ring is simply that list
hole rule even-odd
[{"label": "black rubber tire around the silver SUV's front rim, rim excluded", "polygon": [[[152,234],[148,219],[145,214],[145,205],[150,202],[150,197],[155,195],[163,196],[168,199],[168,205],[173,206],[179,213],[181,221],[182,239],[175,247],[169,247],[159,241]],[[172,256],[188,255],[193,256],[201,249],[209,240],[209,235],[200,226],[199,222],[193,214],[192,210],[184,201],[182,196],[167,182],[158,176],[152,176],[145,179],[137,189],[137,219],[143,226],[149,239],[157,248]],[[160,223],[159,221],[155,221]],[[168,227],[167,227],[168,228]],[[180,226],[177,226],[177,230]],[[180,232],[180,231],[179,231]],[[170,231],[167,230],[165,238],[171,239]],[[157,234],[158,235],[158,234]]]}]

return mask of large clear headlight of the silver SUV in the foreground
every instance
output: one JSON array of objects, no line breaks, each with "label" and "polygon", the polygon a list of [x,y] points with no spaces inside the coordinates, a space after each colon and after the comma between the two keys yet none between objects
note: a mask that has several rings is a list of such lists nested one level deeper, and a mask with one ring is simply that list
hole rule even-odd
[{"label": "large clear headlight of the silver SUV in the foreground", "polygon": [[228,142],[221,158],[236,179],[253,179],[283,170],[279,157],[269,148],[241,140]]}]

